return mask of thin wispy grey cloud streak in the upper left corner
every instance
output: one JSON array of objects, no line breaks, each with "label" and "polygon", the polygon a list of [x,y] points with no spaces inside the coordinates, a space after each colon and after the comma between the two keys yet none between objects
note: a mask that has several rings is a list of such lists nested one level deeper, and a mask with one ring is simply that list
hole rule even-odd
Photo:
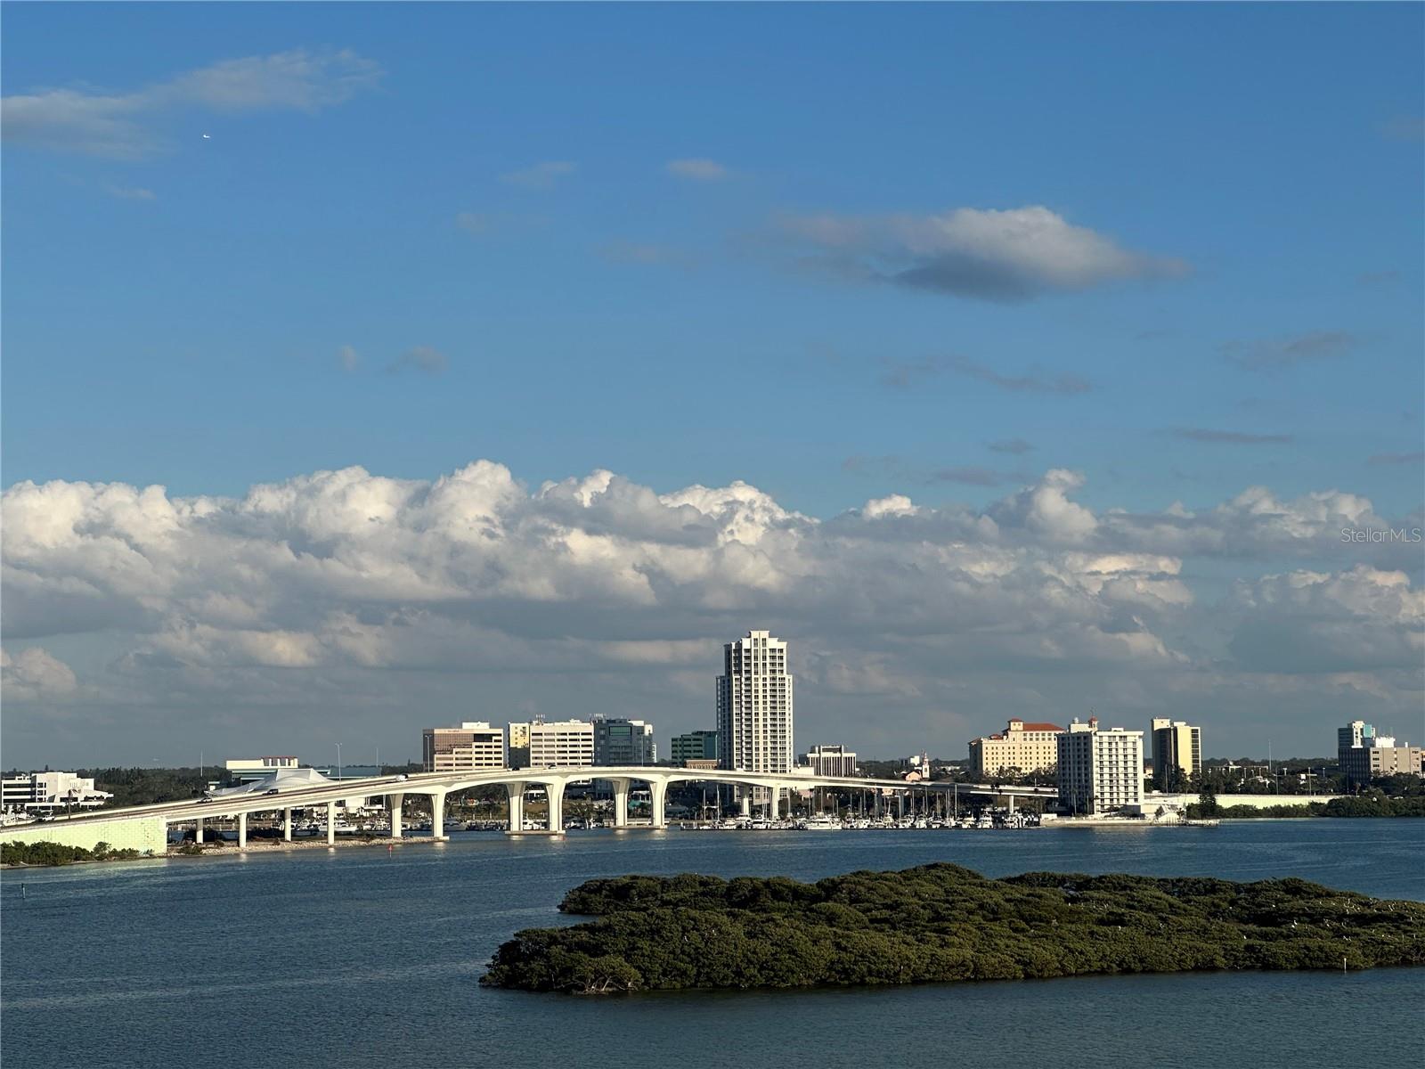
[{"label": "thin wispy grey cloud streak in the upper left corner", "polygon": [[168,147],[165,114],[305,111],[375,87],[380,66],[353,51],[304,48],[222,60],[131,93],[41,88],[0,101],[4,140],[63,153],[137,160]]}]

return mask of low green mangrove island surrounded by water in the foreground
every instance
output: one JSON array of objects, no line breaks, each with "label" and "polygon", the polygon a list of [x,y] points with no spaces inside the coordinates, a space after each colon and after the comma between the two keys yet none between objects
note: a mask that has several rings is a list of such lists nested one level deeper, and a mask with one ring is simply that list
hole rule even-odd
[{"label": "low green mangrove island surrounded by water in the foreground", "polygon": [[817,884],[591,879],[560,909],[600,919],[517,932],[480,982],[587,993],[1425,964],[1425,904],[1304,879],[986,879],[938,864]]}]

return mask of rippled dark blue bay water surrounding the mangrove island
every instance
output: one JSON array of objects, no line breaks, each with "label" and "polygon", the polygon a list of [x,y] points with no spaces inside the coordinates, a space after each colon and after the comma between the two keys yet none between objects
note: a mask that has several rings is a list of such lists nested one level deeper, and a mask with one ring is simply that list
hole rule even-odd
[{"label": "rippled dark blue bay water surrounding the mangrove island", "polygon": [[[1017,983],[581,999],[484,991],[517,928],[626,872],[782,874],[953,861],[1032,869],[1298,875],[1425,899],[1425,821],[1203,830],[613,832],[10,871],[0,1060],[164,1066],[1415,1063],[1425,971],[1093,976]],[[21,897],[21,884],[24,892]],[[1389,1021],[1375,1028],[1369,1022]]]}]

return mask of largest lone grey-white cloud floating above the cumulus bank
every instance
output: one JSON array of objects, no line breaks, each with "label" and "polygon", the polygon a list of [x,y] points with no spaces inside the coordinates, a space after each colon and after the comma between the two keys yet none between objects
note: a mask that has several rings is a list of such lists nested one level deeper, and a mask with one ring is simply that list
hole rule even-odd
[{"label": "largest lone grey-white cloud floating above the cumulus bank", "polygon": [[1120,248],[1039,205],[940,215],[787,215],[779,229],[807,249],[812,265],[842,278],[988,301],[1187,272],[1180,259]]}]

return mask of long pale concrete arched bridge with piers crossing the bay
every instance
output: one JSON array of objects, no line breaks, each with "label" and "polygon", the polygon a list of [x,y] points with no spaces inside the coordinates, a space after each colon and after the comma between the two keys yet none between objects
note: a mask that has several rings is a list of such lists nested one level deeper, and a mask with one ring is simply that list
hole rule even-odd
[{"label": "long pale concrete arched bridge with piers crossing the bay", "polygon": [[[542,787],[549,798],[549,832],[561,834],[564,827],[564,788],[571,783],[601,780],[613,785],[614,792],[614,827],[628,827],[628,791],[633,784],[644,783],[653,801],[651,827],[667,825],[664,815],[668,787],[675,783],[711,783],[732,784],[734,787],[761,787],[770,791],[774,807],[781,805],[782,791],[807,790],[812,787],[831,787],[852,791],[874,790],[878,795],[886,792],[906,794],[911,791],[929,791],[939,794],[968,794],[1007,797],[1010,807],[1015,798],[1053,798],[1057,790],[1053,787],[995,787],[992,784],[958,784],[952,781],[928,780],[868,780],[858,777],[812,777],[778,773],[744,773],[727,771],[721,768],[664,768],[658,765],[630,765],[630,767],[564,767],[564,768],[519,768],[492,771],[457,771],[457,773],[416,773],[413,775],[375,775],[361,780],[339,780],[318,787],[304,787],[281,794],[232,794],[218,798],[188,800],[177,802],[157,802],[154,805],[131,805],[118,810],[90,810],[68,817],[54,817],[43,824],[20,824],[0,828],[0,840],[7,834],[19,831],[33,832],[36,828],[76,828],[86,824],[115,824],[121,821],[155,820],[165,824],[188,824],[197,827],[197,841],[202,842],[202,822],[214,817],[237,817],[238,845],[247,847],[248,815],[254,812],[278,812],[284,815],[282,837],[292,838],[292,812],[295,810],[326,808],[326,841],[335,842],[336,837],[336,805],[356,798],[386,798],[390,810],[390,835],[400,838],[402,804],[408,794],[423,794],[430,798],[432,835],[437,840],[445,835],[445,801],[452,792],[466,791],[472,787],[504,787],[509,797],[512,834],[520,834],[524,828],[524,794],[530,787]],[[742,792],[744,812],[748,808],[748,794]],[[27,835],[33,838],[33,835]]]}]

